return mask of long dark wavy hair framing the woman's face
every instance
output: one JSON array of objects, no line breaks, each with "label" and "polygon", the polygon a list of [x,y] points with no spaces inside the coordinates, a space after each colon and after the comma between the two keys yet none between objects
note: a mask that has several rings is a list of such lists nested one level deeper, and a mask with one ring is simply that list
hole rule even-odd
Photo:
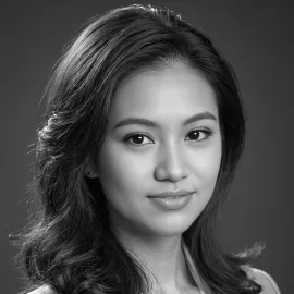
[{"label": "long dark wavy hair framing the woman's face", "polygon": [[183,234],[184,242],[208,293],[261,292],[245,270],[261,248],[229,254],[215,233],[244,146],[245,118],[234,71],[181,15],[139,4],[93,19],[51,75],[33,181],[41,208],[34,225],[19,235],[19,256],[33,286],[49,284],[58,293],[71,294],[148,291],[143,267],[109,230],[103,191],[99,180],[85,176],[85,162],[94,160],[94,150],[103,143],[111,99],[121,82],[136,71],[170,62],[195,68],[209,82],[222,135],[213,195]]}]

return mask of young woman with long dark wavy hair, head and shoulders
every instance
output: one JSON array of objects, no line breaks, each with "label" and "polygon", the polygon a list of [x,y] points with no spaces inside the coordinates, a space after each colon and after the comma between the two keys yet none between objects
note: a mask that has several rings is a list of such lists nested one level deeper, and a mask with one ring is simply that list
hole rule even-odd
[{"label": "young woman with long dark wavy hair, head and shoulders", "polygon": [[47,97],[25,293],[280,293],[250,267],[260,247],[232,255],[215,236],[245,120],[205,35],[167,9],[114,9],[69,46]]}]

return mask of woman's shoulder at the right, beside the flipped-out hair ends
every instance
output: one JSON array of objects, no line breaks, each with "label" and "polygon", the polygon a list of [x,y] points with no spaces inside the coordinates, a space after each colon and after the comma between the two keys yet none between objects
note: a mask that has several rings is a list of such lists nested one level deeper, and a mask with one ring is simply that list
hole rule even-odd
[{"label": "woman's shoulder at the right, beside the flipped-out hair ends", "polygon": [[266,271],[255,268],[249,268],[246,271],[248,278],[262,286],[261,294],[281,294],[278,284]]}]

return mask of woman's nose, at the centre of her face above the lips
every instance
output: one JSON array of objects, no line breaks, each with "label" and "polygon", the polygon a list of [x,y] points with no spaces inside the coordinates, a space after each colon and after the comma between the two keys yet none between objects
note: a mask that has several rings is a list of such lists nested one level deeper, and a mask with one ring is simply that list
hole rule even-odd
[{"label": "woman's nose, at the centre of her face above the lips", "polygon": [[158,155],[158,164],[155,169],[157,181],[179,182],[189,173],[185,151],[181,146],[164,146]]}]

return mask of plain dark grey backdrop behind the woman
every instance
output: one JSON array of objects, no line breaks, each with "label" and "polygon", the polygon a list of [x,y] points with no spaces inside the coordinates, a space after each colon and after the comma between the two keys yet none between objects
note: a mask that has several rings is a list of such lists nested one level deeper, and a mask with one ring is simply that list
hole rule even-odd
[{"label": "plain dark grey backdrop behind the woman", "polygon": [[[135,1],[10,1],[1,4],[0,293],[15,293],[20,274],[8,234],[24,225],[26,186],[41,122],[39,103],[65,42],[90,16]],[[107,3],[105,3],[107,2]],[[248,118],[246,148],[222,211],[223,243],[266,249],[256,267],[292,293],[294,163],[294,9],[291,1],[140,1],[164,4],[207,33],[234,65]],[[292,232],[292,233],[291,233]]]}]

